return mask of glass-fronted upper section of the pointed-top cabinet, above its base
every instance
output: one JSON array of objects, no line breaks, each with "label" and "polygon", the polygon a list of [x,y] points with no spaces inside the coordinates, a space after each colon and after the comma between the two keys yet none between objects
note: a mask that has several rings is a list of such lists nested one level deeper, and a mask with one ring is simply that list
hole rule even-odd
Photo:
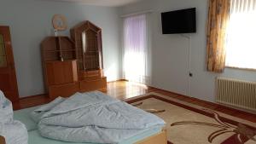
[{"label": "glass-fronted upper section of the pointed-top cabinet, above its base", "polygon": [[79,71],[103,69],[102,29],[87,20],[74,26],[70,33],[77,49]]}]

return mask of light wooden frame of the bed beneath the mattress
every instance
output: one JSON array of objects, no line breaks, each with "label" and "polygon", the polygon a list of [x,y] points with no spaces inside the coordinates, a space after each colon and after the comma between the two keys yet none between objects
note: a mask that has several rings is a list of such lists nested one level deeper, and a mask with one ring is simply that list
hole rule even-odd
[{"label": "light wooden frame of the bed beneath the mattress", "polygon": [[[151,135],[148,138],[137,141],[135,144],[167,144],[167,132],[165,129],[161,130],[158,134]],[[0,144],[6,144],[4,137],[0,135]]]}]

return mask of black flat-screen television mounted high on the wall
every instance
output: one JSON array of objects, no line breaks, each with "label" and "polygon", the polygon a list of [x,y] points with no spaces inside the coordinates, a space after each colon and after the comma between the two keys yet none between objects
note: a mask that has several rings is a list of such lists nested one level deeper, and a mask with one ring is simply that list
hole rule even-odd
[{"label": "black flat-screen television mounted high on the wall", "polygon": [[182,9],[161,14],[163,34],[195,33],[195,8]]}]

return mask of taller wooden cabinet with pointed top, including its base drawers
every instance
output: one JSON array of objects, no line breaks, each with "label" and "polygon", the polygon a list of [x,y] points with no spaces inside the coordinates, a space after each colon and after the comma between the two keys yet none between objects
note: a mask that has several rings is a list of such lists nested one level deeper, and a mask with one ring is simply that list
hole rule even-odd
[{"label": "taller wooden cabinet with pointed top, including its base drawers", "polygon": [[80,90],[106,89],[107,78],[104,77],[102,62],[102,29],[87,20],[74,26],[70,33],[77,49]]}]

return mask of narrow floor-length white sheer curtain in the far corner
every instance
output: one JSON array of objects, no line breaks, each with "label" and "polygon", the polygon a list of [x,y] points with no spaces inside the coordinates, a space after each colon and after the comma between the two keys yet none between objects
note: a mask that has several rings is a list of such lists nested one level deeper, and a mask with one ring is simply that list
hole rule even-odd
[{"label": "narrow floor-length white sheer curtain in the far corner", "polygon": [[150,49],[147,14],[124,20],[123,76],[141,84],[150,84]]}]

